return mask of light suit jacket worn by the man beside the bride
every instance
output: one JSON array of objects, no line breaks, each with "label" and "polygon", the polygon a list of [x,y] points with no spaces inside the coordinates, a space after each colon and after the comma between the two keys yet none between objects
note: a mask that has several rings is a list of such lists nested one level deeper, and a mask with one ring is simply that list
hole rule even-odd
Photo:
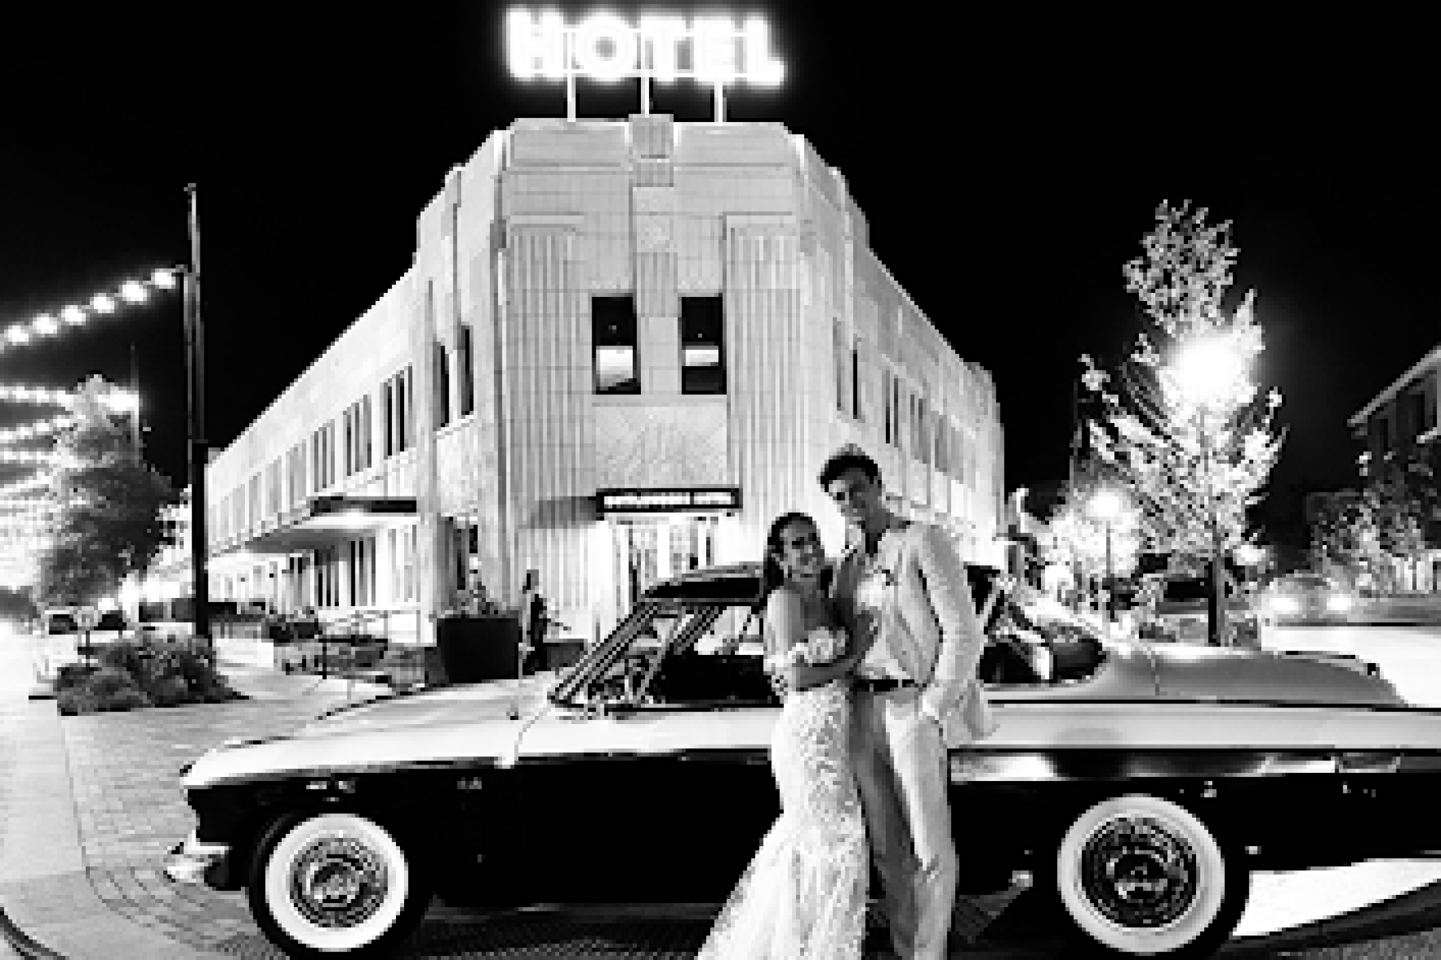
[{"label": "light suit jacket worn by the man beside the bride", "polygon": [[[965,567],[940,527],[912,522],[891,535],[901,541],[889,571],[886,603],[893,606],[880,617],[880,629],[901,633],[892,639],[905,649],[912,679],[921,685],[921,711],[941,725],[945,746],[989,737],[996,718],[976,675],[986,636]],[[836,571],[834,596],[847,615],[863,563],[862,548],[853,545]]]}]

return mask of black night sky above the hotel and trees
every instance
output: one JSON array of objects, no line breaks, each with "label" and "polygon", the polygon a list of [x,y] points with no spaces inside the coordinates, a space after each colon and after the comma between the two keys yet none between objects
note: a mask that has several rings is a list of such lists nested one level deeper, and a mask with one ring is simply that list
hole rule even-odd
[{"label": "black night sky above the hotel and trees", "polygon": [[[197,183],[215,446],[401,276],[451,166],[513,118],[565,111],[559,83],[507,75],[503,4],[311,6],[56,7],[0,27],[0,327],[183,261]],[[1346,417],[1438,343],[1435,76],[1406,49],[1429,32],[1355,12],[1275,29],[1209,7],[915,9],[892,24],[731,7],[769,19],[788,73],[733,91],[729,117],[784,122],[846,174],[879,258],[994,374],[1009,489],[1063,479],[1076,357],[1111,364],[1138,332],[1121,265],[1156,204],[1232,220],[1233,294],[1257,291],[1258,379],[1291,430],[1259,518],[1294,540],[1300,492],[1355,479]],[[634,82],[582,82],[578,102],[640,108]],[[657,89],[654,109],[709,119],[709,92]],[[12,347],[0,381],[128,381],[134,344],[147,455],[183,484],[180,320],[169,295]],[[37,416],[0,404],[0,425]]]}]

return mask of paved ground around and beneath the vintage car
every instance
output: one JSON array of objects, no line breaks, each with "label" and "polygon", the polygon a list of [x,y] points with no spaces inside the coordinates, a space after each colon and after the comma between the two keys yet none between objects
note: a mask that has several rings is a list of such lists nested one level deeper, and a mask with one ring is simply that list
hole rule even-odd
[{"label": "paved ground around and beneath the vintage car", "polygon": [[[160,856],[190,828],[176,770],[228,737],[297,725],[343,701],[344,684],[317,687],[314,678],[236,668],[236,682],[256,699],[59,718],[53,702],[26,699],[29,645],[27,638],[0,636],[0,905],[14,915],[40,917],[43,923],[27,933],[56,948],[65,931],[75,943],[76,930],[84,928],[75,927],[73,917],[82,915],[95,931],[105,931],[108,956],[280,957],[255,928],[241,894],[176,887],[160,874]],[[1441,705],[1438,629],[1295,628],[1278,630],[1272,645],[1363,653],[1409,697]],[[29,746],[46,730],[56,743],[48,761],[37,760]],[[66,806],[62,793],[73,797],[73,812],[56,826],[53,813]],[[1242,920],[1245,937],[1226,954],[1441,956],[1435,933],[1441,885],[1431,887],[1437,881],[1441,861],[1429,859],[1261,875]],[[1368,904],[1378,905],[1355,914]],[[481,915],[437,904],[406,956],[686,957],[703,938],[712,910],[537,908]],[[980,933],[996,914],[999,920],[964,956],[1053,954],[1055,944],[1030,915],[1025,895],[1013,902],[964,902],[960,925]],[[1339,914],[1352,915],[1324,920]],[[1306,931],[1304,924],[1319,920]],[[1267,936],[1298,924],[1306,933]],[[121,937],[118,947],[117,930],[130,937]],[[1347,946],[1331,946],[1342,943]],[[19,956],[7,946],[0,950],[0,957]],[[94,953],[62,953],[79,960],[104,951],[95,946]]]}]

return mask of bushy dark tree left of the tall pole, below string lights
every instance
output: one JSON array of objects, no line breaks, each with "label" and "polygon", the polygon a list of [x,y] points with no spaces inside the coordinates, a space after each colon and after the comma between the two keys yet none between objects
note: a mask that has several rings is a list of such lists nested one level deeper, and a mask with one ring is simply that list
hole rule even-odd
[{"label": "bushy dark tree left of the tall pole, below string lights", "polygon": [[65,463],[55,491],[61,511],[40,556],[37,594],[48,606],[94,603],[170,543],[161,510],[179,495],[105,416],[82,417],[56,450]]}]

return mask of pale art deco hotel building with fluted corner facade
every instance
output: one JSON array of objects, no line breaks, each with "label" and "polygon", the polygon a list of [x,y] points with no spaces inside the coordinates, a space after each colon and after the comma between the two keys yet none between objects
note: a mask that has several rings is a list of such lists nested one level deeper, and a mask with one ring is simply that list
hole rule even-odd
[{"label": "pale art deco hotel building with fluted corner facade", "polygon": [[208,469],[210,594],[411,615],[535,570],[595,638],[656,579],[761,557],[870,452],[899,512],[1004,563],[1001,423],[780,124],[522,119],[421,213],[411,269]]}]

